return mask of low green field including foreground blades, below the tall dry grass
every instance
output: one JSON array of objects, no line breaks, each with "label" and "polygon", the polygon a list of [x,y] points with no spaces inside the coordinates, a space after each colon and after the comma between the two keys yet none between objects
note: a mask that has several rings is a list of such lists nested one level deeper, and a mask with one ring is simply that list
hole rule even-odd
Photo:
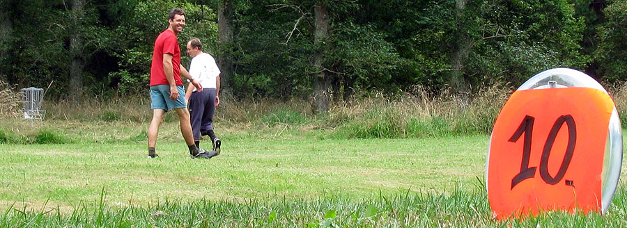
[{"label": "low green field including foreground blades, below the tall dry grass", "polygon": [[627,225],[622,186],[607,215],[493,220],[481,183],[485,135],[327,139],[225,127],[224,154],[193,160],[171,122],[153,160],[143,124],[45,124],[63,126],[56,136],[72,143],[0,144],[0,227]]}]

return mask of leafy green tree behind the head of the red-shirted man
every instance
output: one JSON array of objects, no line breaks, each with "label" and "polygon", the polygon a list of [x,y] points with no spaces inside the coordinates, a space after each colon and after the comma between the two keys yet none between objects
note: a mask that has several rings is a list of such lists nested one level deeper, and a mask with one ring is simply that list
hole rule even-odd
[{"label": "leafy green tree behind the head of the red-shirted man", "polygon": [[192,37],[203,42],[203,51],[216,56],[217,23],[216,15],[209,8],[192,3],[172,3],[169,1],[142,1],[134,6],[126,19],[116,28],[116,42],[109,50],[118,58],[118,71],[110,72],[107,81],[123,92],[136,91],[138,86],[148,86],[150,62],[153,58],[153,45],[157,35],[167,29],[167,17],[172,8],[185,10],[185,28],[178,35],[181,50],[181,63],[189,67],[189,56],[185,54],[185,44]]}]

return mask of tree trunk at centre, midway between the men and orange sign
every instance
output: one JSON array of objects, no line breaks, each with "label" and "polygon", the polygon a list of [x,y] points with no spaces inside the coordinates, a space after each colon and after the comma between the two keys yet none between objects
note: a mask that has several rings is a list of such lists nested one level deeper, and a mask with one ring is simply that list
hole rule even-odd
[{"label": "tree trunk at centre, midway between the men and orange sign", "polygon": [[330,109],[331,103],[331,75],[324,67],[325,49],[329,37],[329,7],[323,1],[316,1],[314,7],[315,32],[314,32],[314,67],[316,68],[316,80],[314,80],[314,108],[318,113]]}]

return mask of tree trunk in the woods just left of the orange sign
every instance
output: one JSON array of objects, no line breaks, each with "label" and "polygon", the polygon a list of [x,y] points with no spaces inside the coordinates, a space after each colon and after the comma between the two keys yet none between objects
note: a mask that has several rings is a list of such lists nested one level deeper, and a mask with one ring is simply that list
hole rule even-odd
[{"label": "tree trunk in the woods just left of the orange sign", "polygon": [[464,22],[464,9],[466,6],[466,0],[457,0],[455,4],[455,11],[457,12],[457,33],[456,41],[453,44],[453,50],[451,51],[451,78],[450,86],[452,92],[467,95],[470,93],[470,86],[464,79],[464,67],[466,65],[466,59],[468,58],[468,51],[470,51],[470,37],[465,33],[467,29]]}]

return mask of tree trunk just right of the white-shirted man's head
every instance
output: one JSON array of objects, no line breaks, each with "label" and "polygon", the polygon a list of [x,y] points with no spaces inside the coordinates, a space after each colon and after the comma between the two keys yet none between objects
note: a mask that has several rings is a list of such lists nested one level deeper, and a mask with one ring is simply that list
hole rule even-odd
[{"label": "tree trunk just right of the white-shirted man's head", "polygon": [[220,80],[227,85],[233,80],[233,11],[235,6],[233,0],[219,0],[218,3],[218,44],[219,53],[217,56],[218,67],[220,68]]}]

